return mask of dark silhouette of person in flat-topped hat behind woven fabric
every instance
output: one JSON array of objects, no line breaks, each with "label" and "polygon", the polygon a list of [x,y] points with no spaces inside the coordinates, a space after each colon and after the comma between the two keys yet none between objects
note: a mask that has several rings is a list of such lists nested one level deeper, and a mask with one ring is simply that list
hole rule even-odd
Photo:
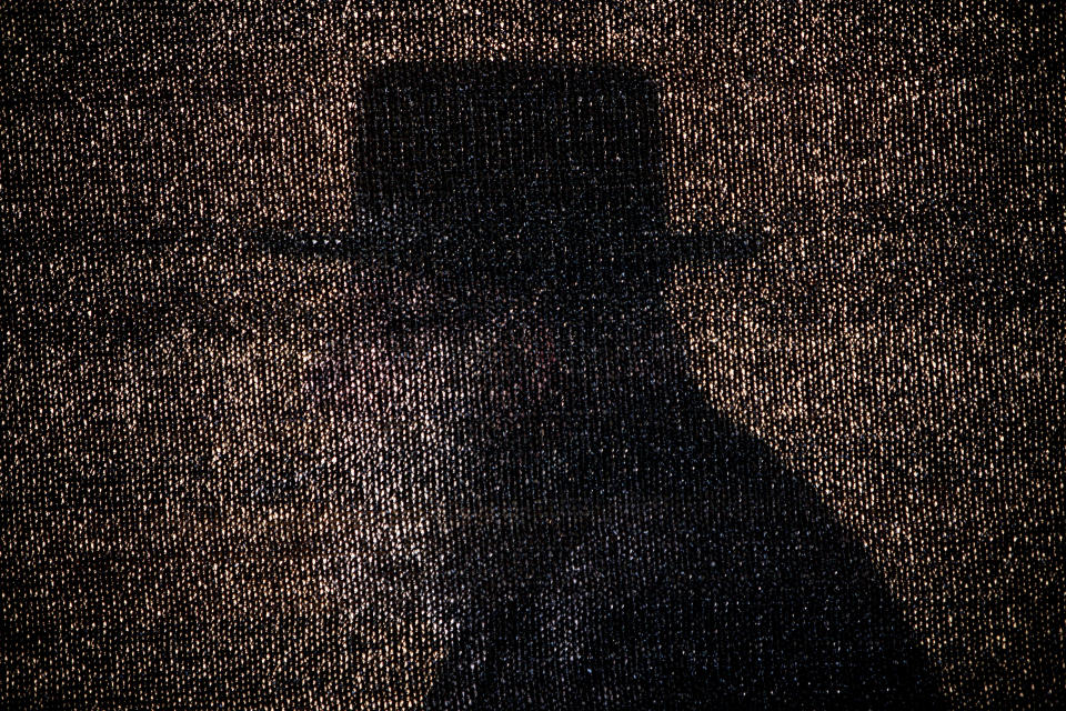
[{"label": "dark silhouette of person in flat-topped hat behind woven fabric", "polygon": [[754,242],[667,233],[653,82],[391,66],[358,106],[358,238],[274,247],[421,271],[451,296],[423,322],[533,302],[557,363],[447,548],[459,631],[428,705],[932,705],[862,545],[690,374],[665,280]]}]

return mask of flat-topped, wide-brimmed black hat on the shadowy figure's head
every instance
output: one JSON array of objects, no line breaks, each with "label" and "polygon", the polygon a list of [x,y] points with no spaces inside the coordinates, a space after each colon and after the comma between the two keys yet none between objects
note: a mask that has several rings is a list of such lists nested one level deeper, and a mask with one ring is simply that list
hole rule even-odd
[{"label": "flat-topped, wide-brimmed black hat on the shadowy figure's head", "polygon": [[646,291],[693,246],[665,232],[658,92],[636,69],[386,64],[358,97],[354,230],[275,244],[576,296]]}]

